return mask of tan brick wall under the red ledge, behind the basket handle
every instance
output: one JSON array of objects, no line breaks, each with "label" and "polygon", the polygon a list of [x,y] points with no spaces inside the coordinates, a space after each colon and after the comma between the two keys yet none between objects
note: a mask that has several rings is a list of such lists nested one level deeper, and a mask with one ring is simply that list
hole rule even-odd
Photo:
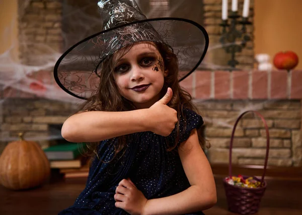
[{"label": "tan brick wall under the red ledge, behind the basket handle", "polygon": [[[215,100],[198,102],[205,121],[205,135],[211,144],[211,163],[228,163],[229,146],[236,119],[246,110],[257,110],[269,127],[268,165],[302,166],[301,101]],[[266,133],[262,120],[246,114],[238,123],[232,150],[234,164],[263,165]]]}]

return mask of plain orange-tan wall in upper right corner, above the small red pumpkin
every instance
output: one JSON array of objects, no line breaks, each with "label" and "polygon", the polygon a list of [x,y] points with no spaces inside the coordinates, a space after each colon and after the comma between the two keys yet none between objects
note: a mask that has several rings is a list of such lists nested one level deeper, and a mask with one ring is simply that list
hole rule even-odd
[{"label": "plain orange-tan wall in upper right corner, above the small red pumpkin", "polygon": [[291,50],[302,69],[302,1],[255,0],[255,54],[268,53],[271,62],[279,51]]}]

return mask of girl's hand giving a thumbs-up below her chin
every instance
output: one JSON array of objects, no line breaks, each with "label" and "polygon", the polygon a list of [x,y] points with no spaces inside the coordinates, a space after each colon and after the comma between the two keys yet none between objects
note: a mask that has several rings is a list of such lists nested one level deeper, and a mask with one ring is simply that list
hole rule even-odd
[{"label": "girl's hand giving a thumbs-up below her chin", "polygon": [[150,131],[168,136],[177,123],[177,111],[170,108],[167,104],[171,100],[173,92],[168,88],[166,95],[148,108],[147,126]]}]

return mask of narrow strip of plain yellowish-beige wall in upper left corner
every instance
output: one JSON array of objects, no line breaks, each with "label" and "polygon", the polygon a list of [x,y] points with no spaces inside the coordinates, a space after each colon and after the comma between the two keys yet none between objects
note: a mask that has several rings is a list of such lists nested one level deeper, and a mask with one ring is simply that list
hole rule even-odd
[{"label": "narrow strip of plain yellowish-beige wall in upper left corner", "polygon": [[0,54],[12,45],[12,57],[18,60],[18,1],[0,0]]}]

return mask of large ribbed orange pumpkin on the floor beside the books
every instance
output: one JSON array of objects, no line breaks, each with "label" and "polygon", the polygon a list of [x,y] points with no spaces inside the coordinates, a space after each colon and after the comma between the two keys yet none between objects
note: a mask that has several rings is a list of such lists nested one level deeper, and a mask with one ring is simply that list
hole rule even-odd
[{"label": "large ribbed orange pumpkin on the floor beside the books", "polygon": [[23,139],[10,142],[0,156],[0,183],[13,190],[41,185],[50,175],[49,161],[34,141]]}]

